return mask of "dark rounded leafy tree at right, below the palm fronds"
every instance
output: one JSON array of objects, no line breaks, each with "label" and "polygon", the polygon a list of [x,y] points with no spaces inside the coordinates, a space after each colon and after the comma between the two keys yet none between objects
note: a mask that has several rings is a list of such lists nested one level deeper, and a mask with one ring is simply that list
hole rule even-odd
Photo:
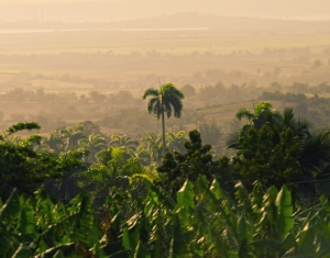
[{"label": "dark rounded leafy tree at right, below the palm fronds", "polygon": [[246,135],[241,135],[240,149],[232,164],[237,179],[252,190],[256,180],[268,188],[278,189],[293,182],[301,175],[297,157],[300,153],[298,137],[290,128],[279,134],[279,143],[273,143],[273,132],[263,126],[260,131],[250,128]]}]

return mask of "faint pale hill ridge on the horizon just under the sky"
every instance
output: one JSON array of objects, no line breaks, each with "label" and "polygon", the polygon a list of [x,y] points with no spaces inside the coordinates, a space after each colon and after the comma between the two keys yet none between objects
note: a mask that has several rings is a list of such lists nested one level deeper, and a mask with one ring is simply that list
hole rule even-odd
[{"label": "faint pale hill ridge on the horizon just under the sky", "polygon": [[220,32],[272,32],[272,33],[330,33],[330,21],[298,21],[213,14],[177,13],[120,22],[64,23],[56,21],[24,20],[2,22],[2,30],[75,30],[75,29],[187,29],[199,27]]}]

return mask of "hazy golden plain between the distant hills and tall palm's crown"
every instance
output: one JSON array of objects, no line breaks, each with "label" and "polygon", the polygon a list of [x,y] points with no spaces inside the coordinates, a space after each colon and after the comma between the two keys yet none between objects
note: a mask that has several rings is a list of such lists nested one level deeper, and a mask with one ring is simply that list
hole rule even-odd
[{"label": "hazy golden plain between the distant hills and tall palm's crown", "polygon": [[[249,81],[261,86],[297,80],[319,83],[329,77],[330,33],[224,34],[212,30],[16,33],[1,34],[0,56],[0,85],[6,80],[4,75],[24,72],[108,81],[107,87],[94,85],[100,90],[109,85],[113,89],[145,89],[156,86],[158,79],[197,88],[217,81],[229,86]],[[318,70],[316,60],[321,64]],[[278,72],[274,74],[274,69]],[[56,79],[52,80],[52,88],[63,89]],[[73,87],[86,88],[84,83]],[[48,89],[48,85],[44,88]]]}]

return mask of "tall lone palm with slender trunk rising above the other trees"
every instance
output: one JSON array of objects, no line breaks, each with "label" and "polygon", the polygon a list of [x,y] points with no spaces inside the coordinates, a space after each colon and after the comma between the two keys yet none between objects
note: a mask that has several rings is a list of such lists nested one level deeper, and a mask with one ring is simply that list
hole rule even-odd
[{"label": "tall lone palm with slender trunk rising above the other trees", "polygon": [[144,94],[143,99],[151,97],[147,102],[146,111],[154,113],[160,120],[162,117],[163,127],[163,155],[165,155],[165,113],[167,119],[174,113],[175,117],[182,116],[184,93],[176,89],[172,83],[161,86],[161,89],[150,88]]}]

